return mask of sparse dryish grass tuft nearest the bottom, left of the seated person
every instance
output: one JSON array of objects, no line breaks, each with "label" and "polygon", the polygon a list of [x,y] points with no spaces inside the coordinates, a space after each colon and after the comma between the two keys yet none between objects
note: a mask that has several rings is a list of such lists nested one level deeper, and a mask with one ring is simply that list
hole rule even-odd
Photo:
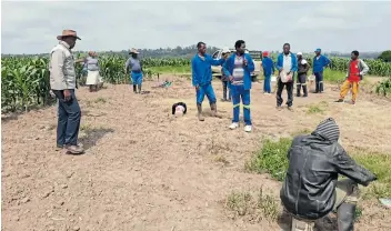
[{"label": "sparse dryish grass tuft nearest the bottom, left of the seated person", "polygon": [[231,192],[225,201],[225,208],[234,212],[235,217],[250,215],[251,220],[262,220],[263,218],[275,221],[279,215],[279,204],[277,200],[263,193],[263,190],[252,195],[250,192]]}]

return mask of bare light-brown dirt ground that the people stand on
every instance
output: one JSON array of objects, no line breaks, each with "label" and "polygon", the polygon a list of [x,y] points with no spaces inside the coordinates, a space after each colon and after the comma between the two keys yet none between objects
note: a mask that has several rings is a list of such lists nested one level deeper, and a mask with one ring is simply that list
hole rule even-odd
[{"label": "bare light-brown dirt ground that the people stand on", "polygon": [[[154,84],[144,83],[146,94],[133,94],[129,86],[79,89],[83,155],[54,150],[56,107],[2,118],[2,230],[281,230],[277,222],[231,219],[223,203],[233,190],[261,187],[279,200],[279,182],[244,171],[262,139],[312,130],[331,116],[347,149],[391,153],[387,100],[362,94],[357,106],[337,104],[337,87],[327,86],[323,94],[294,98],[293,112],[277,111],[275,97],[254,83],[253,131],[245,133],[243,125],[228,129],[229,102],[218,102],[223,118],[214,119],[205,100],[205,121],[198,121],[190,81],[177,79],[169,89]],[[221,82],[213,86],[220,98]],[[172,119],[177,101],[188,104],[188,114]],[[308,113],[321,101],[324,112]],[[390,230],[390,215],[368,202],[355,228]]]}]

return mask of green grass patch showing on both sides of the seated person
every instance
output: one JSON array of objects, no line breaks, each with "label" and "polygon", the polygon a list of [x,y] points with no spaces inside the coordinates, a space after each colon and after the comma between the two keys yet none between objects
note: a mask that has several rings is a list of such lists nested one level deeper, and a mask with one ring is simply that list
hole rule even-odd
[{"label": "green grass patch showing on both sides of the seated person", "polygon": [[[291,142],[291,138],[281,138],[278,141],[265,140],[253,158],[245,163],[245,169],[257,173],[269,173],[273,179],[283,181],[288,170],[287,153]],[[368,188],[363,188],[363,197],[391,197],[391,154],[353,151],[351,157],[359,164],[378,175],[378,181],[370,183]]]}]

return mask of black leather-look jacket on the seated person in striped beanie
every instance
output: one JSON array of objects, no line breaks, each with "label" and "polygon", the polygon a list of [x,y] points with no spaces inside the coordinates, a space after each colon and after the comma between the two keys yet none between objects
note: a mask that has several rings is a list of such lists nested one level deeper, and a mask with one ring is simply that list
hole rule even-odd
[{"label": "black leather-look jacket on the seated person in striped beanie", "polygon": [[358,165],[337,141],[317,130],[310,135],[295,137],[288,159],[280,198],[284,208],[298,218],[315,220],[332,210],[338,174],[362,185],[377,179]]}]

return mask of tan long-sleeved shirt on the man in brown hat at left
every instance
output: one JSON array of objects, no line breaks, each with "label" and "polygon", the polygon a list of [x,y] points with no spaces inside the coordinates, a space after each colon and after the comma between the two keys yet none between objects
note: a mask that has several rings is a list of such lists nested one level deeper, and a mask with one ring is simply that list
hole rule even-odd
[{"label": "tan long-sleeved shirt on the man in brown hat at left", "polygon": [[74,59],[69,44],[60,41],[50,52],[50,88],[64,90],[76,88]]}]

